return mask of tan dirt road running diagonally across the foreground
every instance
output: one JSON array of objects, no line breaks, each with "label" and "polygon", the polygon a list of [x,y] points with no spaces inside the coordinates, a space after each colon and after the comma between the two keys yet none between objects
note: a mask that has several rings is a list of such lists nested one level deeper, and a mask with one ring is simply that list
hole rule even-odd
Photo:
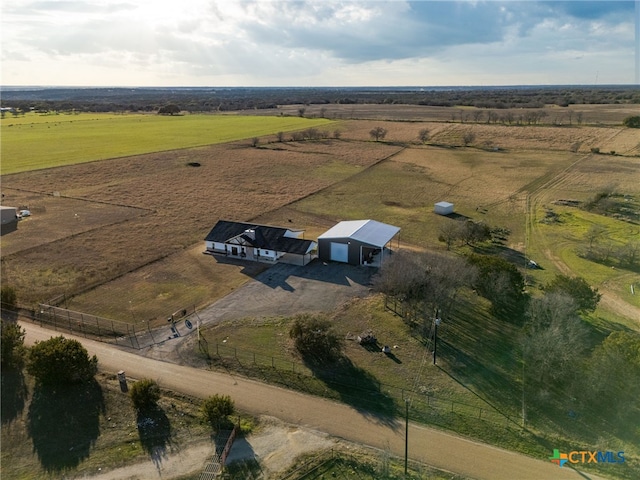
[{"label": "tan dirt road running diagonally across the foreground", "polygon": [[[24,323],[26,343],[46,340],[55,332]],[[74,338],[66,335],[68,338]],[[97,355],[105,372],[127,372],[129,378],[153,378],[167,389],[194,397],[230,395],[238,409],[269,415],[331,436],[404,456],[404,422],[385,420],[347,405],[303,395],[229,374],[194,369],[142,357],[112,345],[77,338]],[[551,455],[551,452],[549,452]],[[548,459],[533,459],[465,438],[410,423],[411,459],[471,478],[487,480],[578,479],[598,477],[558,467]]]}]

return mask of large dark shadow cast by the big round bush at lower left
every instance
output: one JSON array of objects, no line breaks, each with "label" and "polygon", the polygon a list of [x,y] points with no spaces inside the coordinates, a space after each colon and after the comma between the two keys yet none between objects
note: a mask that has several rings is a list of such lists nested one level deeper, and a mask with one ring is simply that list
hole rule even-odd
[{"label": "large dark shadow cast by the big round bush at lower left", "polygon": [[102,388],[95,379],[74,385],[37,385],[27,429],[42,467],[59,472],[88,458],[100,436],[104,411]]}]

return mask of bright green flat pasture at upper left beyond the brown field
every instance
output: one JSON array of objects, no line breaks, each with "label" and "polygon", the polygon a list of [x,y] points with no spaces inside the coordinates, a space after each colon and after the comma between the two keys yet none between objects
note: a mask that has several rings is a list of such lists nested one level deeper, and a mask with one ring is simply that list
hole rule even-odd
[{"label": "bright green flat pasture at upper left beyond the brown field", "polygon": [[6,117],[0,172],[18,173],[107,158],[226,143],[331,123],[239,115],[60,114]]}]

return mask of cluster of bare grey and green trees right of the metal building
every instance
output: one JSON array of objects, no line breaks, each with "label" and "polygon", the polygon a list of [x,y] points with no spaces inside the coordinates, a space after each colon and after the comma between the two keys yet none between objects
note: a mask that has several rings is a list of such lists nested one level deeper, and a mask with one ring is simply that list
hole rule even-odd
[{"label": "cluster of bare grey and green trees right of the metal building", "polygon": [[435,318],[454,321],[451,312],[461,289],[489,300],[496,318],[519,327],[513,344],[521,351],[523,389],[539,411],[571,398],[571,409],[591,415],[606,408],[598,415],[619,425],[640,415],[640,334],[595,334],[584,318],[595,311],[601,294],[580,277],[556,275],[534,297],[518,268],[500,257],[400,251],[373,285],[411,312],[408,318],[417,319],[416,332],[423,336]]}]

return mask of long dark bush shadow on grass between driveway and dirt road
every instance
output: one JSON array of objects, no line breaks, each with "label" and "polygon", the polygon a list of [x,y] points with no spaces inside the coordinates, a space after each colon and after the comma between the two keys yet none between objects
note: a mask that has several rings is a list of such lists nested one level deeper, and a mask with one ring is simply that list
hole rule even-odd
[{"label": "long dark bush shadow on grass between driveway and dirt road", "polygon": [[313,375],[337,393],[340,401],[363,415],[371,415],[387,425],[395,425],[397,407],[394,399],[382,390],[382,385],[371,373],[354,365],[346,356],[332,363],[317,359],[304,360]]}]

